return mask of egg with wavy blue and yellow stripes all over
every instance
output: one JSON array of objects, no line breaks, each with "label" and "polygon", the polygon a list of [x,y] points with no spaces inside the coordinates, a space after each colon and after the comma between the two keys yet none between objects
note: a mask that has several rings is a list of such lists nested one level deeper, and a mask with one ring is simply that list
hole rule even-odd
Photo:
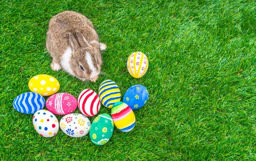
[{"label": "egg with wavy blue and yellow stripes all over", "polygon": [[112,108],[113,104],[121,100],[121,92],[113,80],[104,80],[99,86],[99,100],[101,103]]}]

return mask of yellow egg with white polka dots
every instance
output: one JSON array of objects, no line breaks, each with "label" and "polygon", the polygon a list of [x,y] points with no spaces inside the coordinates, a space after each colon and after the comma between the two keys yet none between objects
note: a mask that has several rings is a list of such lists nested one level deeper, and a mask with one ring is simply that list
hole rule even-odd
[{"label": "yellow egg with white polka dots", "polygon": [[43,96],[53,95],[59,88],[58,80],[50,75],[35,75],[29,80],[29,89]]}]

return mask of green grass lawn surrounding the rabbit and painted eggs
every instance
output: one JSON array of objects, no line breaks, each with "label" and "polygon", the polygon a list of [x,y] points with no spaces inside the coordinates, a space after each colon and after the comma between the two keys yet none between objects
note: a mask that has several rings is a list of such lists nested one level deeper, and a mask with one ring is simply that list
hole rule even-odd
[{"label": "green grass lawn surrounding the rabbit and painted eggs", "polygon": [[[0,160],[256,160],[252,2],[1,1]],[[102,71],[107,74],[96,83],[50,68],[45,47],[48,23],[65,10],[90,18],[108,46],[102,53]],[[126,69],[126,60],[135,51],[144,52],[149,60],[148,72],[140,79]],[[125,133],[115,128],[104,146],[94,145],[89,135],[71,138],[61,130],[43,138],[33,128],[33,115],[12,106],[17,95],[29,92],[29,79],[38,74],[54,76],[61,84],[58,92],[76,98],[81,90],[98,91],[103,80],[111,79],[122,96],[130,86],[142,84],[149,100],[134,111],[134,129]],[[111,111],[102,106],[99,113]]]}]

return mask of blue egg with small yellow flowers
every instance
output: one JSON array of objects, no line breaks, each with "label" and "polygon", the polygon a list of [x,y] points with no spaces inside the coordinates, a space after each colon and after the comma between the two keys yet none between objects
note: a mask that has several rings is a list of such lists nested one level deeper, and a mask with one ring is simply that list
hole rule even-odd
[{"label": "blue egg with small yellow flowers", "polygon": [[131,86],[124,95],[123,102],[132,110],[140,109],[148,101],[148,90],[145,86],[137,84]]}]

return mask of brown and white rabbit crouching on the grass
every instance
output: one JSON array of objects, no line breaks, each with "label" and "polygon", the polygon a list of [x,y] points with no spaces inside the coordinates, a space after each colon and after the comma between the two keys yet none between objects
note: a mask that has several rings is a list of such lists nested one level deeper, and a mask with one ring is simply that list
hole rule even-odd
[{"label": "brown and white rabbit crouching on the grass", "polygon": [[46,48],[54,71],[63,69],[81,81],[96,82],[102,67],[101,51],[107,46],[99,43],[88,18],[75,11],[63,11],[49,21]]}]

